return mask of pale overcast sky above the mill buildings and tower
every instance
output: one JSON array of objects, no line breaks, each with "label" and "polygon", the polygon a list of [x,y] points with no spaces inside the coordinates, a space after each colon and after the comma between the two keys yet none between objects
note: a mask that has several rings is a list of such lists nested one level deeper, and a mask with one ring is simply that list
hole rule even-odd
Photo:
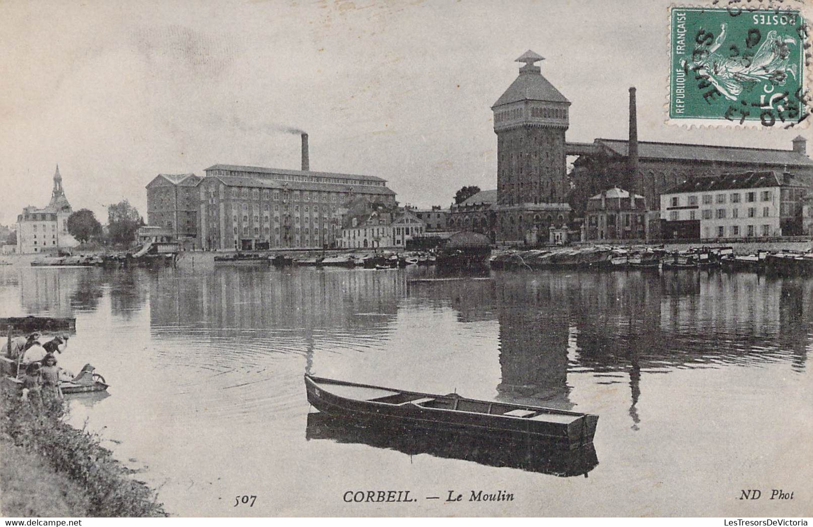
[{"label": "pale overcast sky above the mill buildings and tower", "polygon": [[[59,163],[73,208],[146,216],[155,175],[215,163],[377,175],[448,206],[496,186],[490,106],[531,49],[571,102],[567,140],[790,149],[809,130],[663,124],[670,0],[641,2],[0,2],[0,223],[44,206]],[[813,145],[809,146],[813,149]]]}]

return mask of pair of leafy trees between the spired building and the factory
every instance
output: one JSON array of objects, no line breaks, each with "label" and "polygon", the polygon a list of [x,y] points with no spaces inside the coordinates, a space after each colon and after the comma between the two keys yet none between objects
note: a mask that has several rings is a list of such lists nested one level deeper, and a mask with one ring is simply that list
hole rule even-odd
[{"label": "pair of leafy trees between the spired building and the factory", "polygon": [[91,240],[102,243],[129,245],[136,239],[144,218],[127,200],[107,207],[107,232],[92,210],[81,209],[67,218],[67,231],[81,243]]}]

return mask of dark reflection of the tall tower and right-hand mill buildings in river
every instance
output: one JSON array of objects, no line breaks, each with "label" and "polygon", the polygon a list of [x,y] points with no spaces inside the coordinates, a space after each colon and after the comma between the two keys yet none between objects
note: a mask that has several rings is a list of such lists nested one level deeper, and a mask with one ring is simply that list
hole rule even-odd
[{"label": "dark reflection of the tall tower and right-hand mill buildings in river", "polygon": [[460,322],[498,321],[498,399],[571,409],[567,375],[593,372],[598,384],[628,385],[633,430],[646,374],[781,359],[802,369],[813,339],[810,280],[705,271],[492,278],[413,280],[409,292],[446,300]]}]

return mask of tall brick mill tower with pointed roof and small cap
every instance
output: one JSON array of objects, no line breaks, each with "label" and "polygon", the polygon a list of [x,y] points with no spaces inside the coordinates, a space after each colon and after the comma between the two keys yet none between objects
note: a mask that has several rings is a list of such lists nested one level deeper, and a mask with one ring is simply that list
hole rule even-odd
[{"label": "tall brick mill tower with pointed roof and small cap", "polygon": [[565,154],[570,102],[541,75],[536,65],[541,60],[531,50],[517,58],[524,63],[520,76],[491,107],[502,240],[528,240],[532,230],[546,238],[570,213]]}]

